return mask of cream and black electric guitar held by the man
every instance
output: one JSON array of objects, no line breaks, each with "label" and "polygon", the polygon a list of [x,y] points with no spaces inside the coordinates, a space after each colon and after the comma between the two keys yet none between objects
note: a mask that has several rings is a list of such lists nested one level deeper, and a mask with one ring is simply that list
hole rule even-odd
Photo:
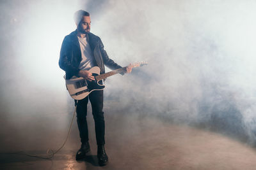
[{"label": "cream and black electric guitar held by the man", "polygon": [[[131,64],[132,68],[144,65],[147,65],[147,62],[135,62],[134,64]],[[102,80],[106,79],[109,76],[126,72],[126,67],[115,69],[104,74],[100,74],[100,68],[97,66],[92,67],[88,71],[92,73],[95,80],[88,81],[85,80],[83,77],[77,76],[72,76],[72,78],[68,80],[65,79],[67,90],[73,99],[81,100],[88,96],[90,92],[94,90],[103,90],[105,88],[105,85]]]}]

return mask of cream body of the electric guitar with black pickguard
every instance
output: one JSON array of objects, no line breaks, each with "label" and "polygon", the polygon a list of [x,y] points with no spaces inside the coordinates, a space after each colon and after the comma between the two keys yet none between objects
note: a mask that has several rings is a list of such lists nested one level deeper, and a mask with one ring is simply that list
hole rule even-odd
[{"label": "cream body of the electric guitar with black pickguard", "polygon": [[[99,76],[100,68],[95,66],[88,70],[93,76]],[[105,85],[103,85],[103,81],[88,81],[83,77],[72,76],[69,80],[66,81],[67,90],[70,96],[73,99],[81,100],[90,94],[90,92],[94,90],[103,90]]]}]

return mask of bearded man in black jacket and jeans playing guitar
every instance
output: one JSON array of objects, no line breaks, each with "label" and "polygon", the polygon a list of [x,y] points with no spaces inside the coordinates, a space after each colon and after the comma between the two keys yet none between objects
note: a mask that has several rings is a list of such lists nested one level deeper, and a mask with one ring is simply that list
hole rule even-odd
[{"label": "bearded man in black jacket and jeans playing guitar", "polygon": [[[110,69],[118,69],[121,66],[109,59],[102,41],[98,36],[90,32],[91,20],[87,11],[76,11],[74,19],[77,29],[65,36],[61,45],[59,65],[66,72],[66,78],[72,76],[83,77],[88,81],[95,78],[88,70],[93,66],[100,67],[100,74],[105,73],[104,65]],[[127,73],[131,73],[132,67],[127,67]],[[77,101],[77,125],[81,138],[81,148],[76,153],[76,159],[83,159],[90,151],[88,142],[88,127],[86,122],[88,99],[92,104],[93,119],[97,140],[97,157],[100,165],[106,165],[108,155],[105,145],[105,122],[103,109],[103,90],[95,90],[82,100]]]}]

